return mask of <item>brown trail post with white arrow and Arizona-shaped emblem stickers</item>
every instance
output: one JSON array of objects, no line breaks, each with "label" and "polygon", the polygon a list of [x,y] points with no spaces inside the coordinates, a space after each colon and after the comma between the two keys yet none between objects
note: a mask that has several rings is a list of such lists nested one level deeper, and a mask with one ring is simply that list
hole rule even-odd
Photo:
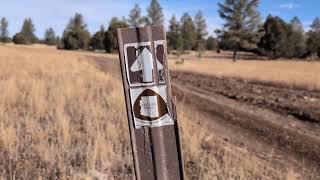
[{"label": "brown trail post with white arrow and Arizona-shaped emblem stickers", "polygon": [[164,28],[117,29],[137,180],[183,180]]}]

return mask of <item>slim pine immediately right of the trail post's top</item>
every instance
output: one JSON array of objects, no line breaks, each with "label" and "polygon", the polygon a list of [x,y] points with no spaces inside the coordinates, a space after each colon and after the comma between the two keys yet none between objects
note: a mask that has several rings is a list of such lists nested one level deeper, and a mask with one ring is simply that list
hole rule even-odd
[{"label": "slim pine immediately right of the trail post's top", "polygon": [[176,16],[172,16],[169,25],[169,31],[167,32],[167,39],[168,39],[168,48],[179,50],[182,49],[182,37],[180,32],[180,24],[177,21]]}]

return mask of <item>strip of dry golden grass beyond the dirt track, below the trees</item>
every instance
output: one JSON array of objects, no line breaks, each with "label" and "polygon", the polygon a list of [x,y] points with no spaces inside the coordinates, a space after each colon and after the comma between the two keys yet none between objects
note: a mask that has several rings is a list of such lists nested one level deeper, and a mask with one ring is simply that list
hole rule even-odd
[{"label": "strip of dry golden grass beyond the dirt track, below the trees", "polygon": [[[299,87],[308,90],[320,90],[320,62],[306,61],[258,61],[239,60],[232,62],[230,53],[221,54],[206,53],[199,59],[194,55],[184,55],[184,64],[175,63],[172,60],[170,68],[178,71],[192,71],[209,74],[218,77],[236,77],[249,81],[259,81],[284,85],[287,87]],[[250,55],[247,55],[249,58]]]}]

